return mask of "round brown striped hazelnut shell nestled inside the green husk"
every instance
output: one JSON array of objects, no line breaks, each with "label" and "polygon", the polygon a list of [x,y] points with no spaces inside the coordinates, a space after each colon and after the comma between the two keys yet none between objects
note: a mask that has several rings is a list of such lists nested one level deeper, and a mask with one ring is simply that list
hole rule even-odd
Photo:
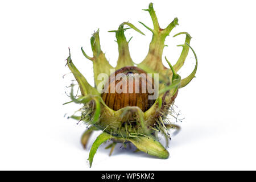
[{"label": "round brown striped hazelnut shell nestled inside the green husk", "polygon": [[[122,89],[121,93],[118,88]],[[154,94],[152,89],[154,82],[146,72],[138,67],[123,67],[110,75],[101,97],[105,104],[115,111],[126,106],[138,106],[142,111],[146,111],[155,102],[148,99],[148,96]]]}]

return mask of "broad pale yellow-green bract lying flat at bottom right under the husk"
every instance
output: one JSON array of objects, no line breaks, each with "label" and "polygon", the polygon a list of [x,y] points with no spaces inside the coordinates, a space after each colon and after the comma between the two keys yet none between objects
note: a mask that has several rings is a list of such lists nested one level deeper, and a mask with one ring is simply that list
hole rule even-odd
[{"label": "broad pale yellow-green bract lying flat at bottom right under the husk", "polygon": [[156,156],[160,159],[167,159],[169,152],[160,142],[152,137],[137,137],[127,139],[133,143],[140,151],[149,155]]}]

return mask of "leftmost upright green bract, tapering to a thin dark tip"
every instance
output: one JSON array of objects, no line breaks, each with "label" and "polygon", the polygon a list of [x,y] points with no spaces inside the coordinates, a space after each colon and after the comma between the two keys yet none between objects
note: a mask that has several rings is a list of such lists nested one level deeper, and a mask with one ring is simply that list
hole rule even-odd
[{"label": "leftmost upright green bract, tapering to a thin dark tip", "polygon": [[68,64],[68,68],[71,70],[71,72],[75,76],[76,81],[79,83],[79,88],[81,90],[82,96],[86,96],[87,94],[96,94],[96,95],[99,94],[95,88],[90,86],[90,84],[85,79],[85,77],[79,72],[79,70],[73,64],[73,62],[71,60],[70,49],[69,49],[69,56],[67,59],[67,64]]}]

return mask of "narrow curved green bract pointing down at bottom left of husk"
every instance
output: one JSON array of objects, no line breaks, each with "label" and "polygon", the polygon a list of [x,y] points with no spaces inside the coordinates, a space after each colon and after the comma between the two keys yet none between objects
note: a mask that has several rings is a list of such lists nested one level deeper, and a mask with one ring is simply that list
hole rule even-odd
[{"label": "narrow curved green bract pointing down at bottom left of husk", "polygon": [[90,163],[90,167],[92,167],[92,162],[93,162],[93,157],[96,154],[96,151],[98,149],[98,147],[104,143],[106,140],[112,138],[111,135],[107,134],[107,133],[102,133],[100,134],[97,139],[94,141],[92,148],[90,148],[90,154],[89,154],[89,163]]}]

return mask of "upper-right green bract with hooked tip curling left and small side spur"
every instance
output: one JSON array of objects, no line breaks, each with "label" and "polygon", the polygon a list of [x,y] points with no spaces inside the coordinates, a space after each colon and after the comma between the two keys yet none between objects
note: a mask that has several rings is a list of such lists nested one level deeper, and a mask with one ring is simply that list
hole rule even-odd
[{"label": "upper-right green bract with hooked tip curling left and small side spur", "polygon": [[177,35],[182,35],[182,34],[185,34],[186,35],[186,38],[185,38],[185,43],[182,44],[182,45],[178,45],[178,46],[181,46],[182,47],[182,51],[180,53],[180,57],[179,59],[177,60],[177,63],[174,65],[174,70],[177,72],[179,71],[179,69],[183,66],[183,64],[185,63],[185,59],[187,58],[187,55],[188,55],[188,51],[189,51],[189,47],[187,44],[190,43],[190,40],[191,40],[191,36],[187,33],[187,32],[180,32],[179,34],[176,34],[174,35],[177,36]]}]

